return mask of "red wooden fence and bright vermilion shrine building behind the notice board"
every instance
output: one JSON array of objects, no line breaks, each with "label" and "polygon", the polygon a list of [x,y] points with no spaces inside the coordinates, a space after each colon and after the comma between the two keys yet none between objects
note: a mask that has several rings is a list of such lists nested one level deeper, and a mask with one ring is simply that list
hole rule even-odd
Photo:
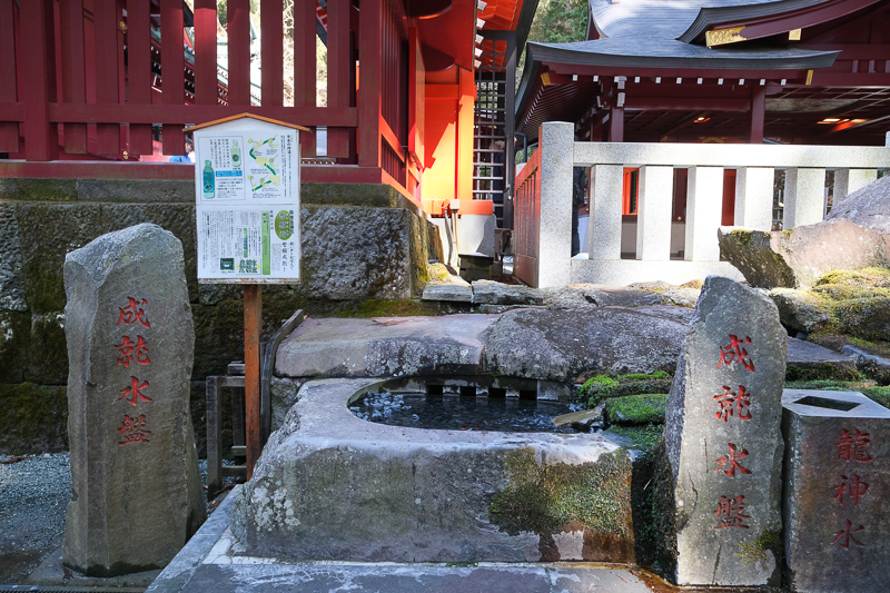
[{"label": "red wooden fence and bright vermilion shrine building behind the notice board", "polygon": [[192,179],[167,161],[184,127],[249,112],[313,130],[306,182],[503,216],[512,142],[503,160],[495,142],[513,137],[537,0],[294,0],[293,39],[281,0],[259,1],[261,34],[251,3],[228,0],[220,20],[216,0],[0,0],[0,176]]}]

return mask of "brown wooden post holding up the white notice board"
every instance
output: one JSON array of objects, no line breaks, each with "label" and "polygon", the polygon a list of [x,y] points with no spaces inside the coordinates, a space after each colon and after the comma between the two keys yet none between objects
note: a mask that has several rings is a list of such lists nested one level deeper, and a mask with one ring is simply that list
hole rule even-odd
[{"label": "brown wooden post holding up the white notice board", "polygon": [[263,449],[259,426],[259,334],[263,329],[263,287],[247,284],[244,287],[244,387],[245,427],[247,445],[247,480]]}]

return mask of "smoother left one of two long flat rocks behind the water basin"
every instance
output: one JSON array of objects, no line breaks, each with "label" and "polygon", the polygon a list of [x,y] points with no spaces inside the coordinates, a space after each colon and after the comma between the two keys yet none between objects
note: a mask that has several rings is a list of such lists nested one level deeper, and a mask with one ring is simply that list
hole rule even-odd
[{"label": "smoother left one of two long flat rocks behind the water basin", "polygon": [[493,315],[306,319],[278,349],[276,374],[383,377],[478,374]]}]

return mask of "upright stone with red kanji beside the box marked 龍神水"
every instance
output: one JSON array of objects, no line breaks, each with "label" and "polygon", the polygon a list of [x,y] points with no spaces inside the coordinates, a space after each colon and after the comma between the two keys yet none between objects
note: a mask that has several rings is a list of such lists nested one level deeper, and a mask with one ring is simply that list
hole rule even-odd
[{"label": "upright stone with red kanji beside the box marked \u9f8d\u795e\u6c34", "polygon": [[708,277],[668,398],[678,584],[781,580],[787,348],[770,298]]}]

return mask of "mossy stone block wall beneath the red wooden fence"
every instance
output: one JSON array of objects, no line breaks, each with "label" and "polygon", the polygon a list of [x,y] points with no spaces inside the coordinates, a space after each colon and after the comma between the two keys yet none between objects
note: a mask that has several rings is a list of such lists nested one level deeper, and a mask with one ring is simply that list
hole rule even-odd
[{"label": "mossy stone block wall beneath the red wooden fence", "polygon": [[[301,195],[303,284],[264,288],[265,334],[298,308],[404,299],[422,288],[434,230],[397,191],[304,184]],[[0,179],[0,453],[67,448],[65,256],[139,223],[164,227],[185,248],[202,451],[205,378],[243,358],[244,309],[240,287],[197,281],[194,201],[191,181]]]}]

